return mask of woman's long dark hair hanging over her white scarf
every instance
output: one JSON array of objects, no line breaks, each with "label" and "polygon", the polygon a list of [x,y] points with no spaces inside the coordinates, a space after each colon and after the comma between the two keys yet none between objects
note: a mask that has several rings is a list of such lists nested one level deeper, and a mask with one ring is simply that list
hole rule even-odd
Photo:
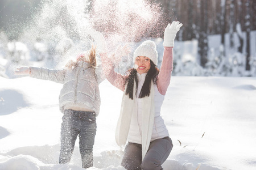
[{"label": "woman's long dark hair hanging over her white scarf", "polygon": [[[136,82],[136,92],[137,94],[137,88],[138,88],[138,79],[137,79],[137,70],[130,69],[127,72],[129,72],[129,76],[126,79],[127,88],[125,95],[129,95],[129,98],[133,100],[133,86],[134,86],[134,79]],[[153,83],[156,83],[157,76],[159,74],[158,67],[150,60],[150,69],[147,72],[145,81],[143,83],[143,86],[141,88],[141,92],[139,94],[139,98],[143,98],[150,95],[150,86],[151,86],[151,80],[153,80]],[[126,84],[125,83],[125,84]]]}]

